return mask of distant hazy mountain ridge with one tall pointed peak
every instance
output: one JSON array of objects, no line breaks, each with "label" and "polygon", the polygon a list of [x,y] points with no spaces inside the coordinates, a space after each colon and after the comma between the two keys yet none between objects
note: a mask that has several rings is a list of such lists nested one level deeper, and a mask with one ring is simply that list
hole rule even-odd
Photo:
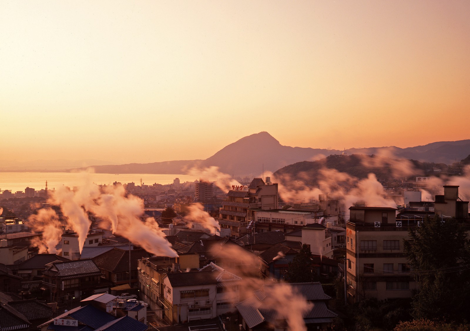
[{"label": "distant hazy mountain ridge with one tall pointed peak", "polygon": [[[395,146],[350,148],[345,153],[371,155],[380,154],[381,151],[392,152],[395,158],[451,164],[470,154],[470,139],[440,141],[407,148]],[[196,166],[217,166],[221,172],[229,175],[253,174],[258,176],[263,169],[274,172],[296,162],[313,161],[331,154],[342,153],[343,151],[337,149],[283,146],[273,136],[263,131],[243,137],[225,146],[206,160],[96,165],[93,168],[97,173],[186,174],[189,169]]]}]

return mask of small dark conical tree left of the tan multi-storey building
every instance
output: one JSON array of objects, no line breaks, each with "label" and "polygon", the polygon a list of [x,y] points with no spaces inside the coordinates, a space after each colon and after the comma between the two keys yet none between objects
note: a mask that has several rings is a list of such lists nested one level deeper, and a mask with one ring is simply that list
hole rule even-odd
[{"label": "small dark conical tree left of the tan multi-storey building", "polygon": [[312,253],[310,247],[306,244],[292,262],[289,262],[289,268],[285,275],[285,280],[289,283],[308,283],[316,280],[315,270],[312,265]]}]

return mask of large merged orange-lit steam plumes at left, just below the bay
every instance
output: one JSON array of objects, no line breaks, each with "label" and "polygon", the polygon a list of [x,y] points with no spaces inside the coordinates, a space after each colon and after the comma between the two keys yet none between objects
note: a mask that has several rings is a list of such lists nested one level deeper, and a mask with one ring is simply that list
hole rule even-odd
[{"label": "large merged orange-lit steam plumes at left, just below the bay", "polygon": [[[126,196],[123,187],[107,186],[101,189],[86,178],[76,191],[61,187],[51,192],[49,203],[60,206],[68,226],[77,232],[80,253],[90,229],[90,213],[103,220],[101,226],[129,239],[149,253],[178,256],[153,217],[147,218],[145,222],[141,221],[141,216],[144,215],[143,200],[133,195]],[[41,215],[47,217],[47,214]],[[39,219],[32,219],[32,224],[41,222]],[[51,246],[44,245],[51,249]]]}]

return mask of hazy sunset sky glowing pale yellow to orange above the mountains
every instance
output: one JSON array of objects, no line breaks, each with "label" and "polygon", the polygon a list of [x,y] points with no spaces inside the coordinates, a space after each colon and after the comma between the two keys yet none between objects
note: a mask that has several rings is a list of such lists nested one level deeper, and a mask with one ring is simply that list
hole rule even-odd
[{"label": "hazy sunset sky glowing pale yellow to orange above the mountains", "polygon": [[0,1],[0,160],[470,139],[470,1]]}]

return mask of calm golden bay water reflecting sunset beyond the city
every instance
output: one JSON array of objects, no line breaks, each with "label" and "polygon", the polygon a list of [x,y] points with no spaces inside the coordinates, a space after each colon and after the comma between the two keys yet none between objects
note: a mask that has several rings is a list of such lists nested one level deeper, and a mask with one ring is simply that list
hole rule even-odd
[{"label": "calm golden bay water reflecting sunset beyond the city", "polygon": [[73,187],[79,186],[90,178],[93,183],[110,185],[114,182],[127,184],[134,182],[135,185],[172,184],[173,179],[180,178],[180,183],[194,182],[196,178],[190,175],[159,175],[159,174],[83,174],[70,172],[0,172],[0,190],[11,190],[11,192],[23,191],[31,187],[36,191],[46,188],[53,190],[61,185]]}]

